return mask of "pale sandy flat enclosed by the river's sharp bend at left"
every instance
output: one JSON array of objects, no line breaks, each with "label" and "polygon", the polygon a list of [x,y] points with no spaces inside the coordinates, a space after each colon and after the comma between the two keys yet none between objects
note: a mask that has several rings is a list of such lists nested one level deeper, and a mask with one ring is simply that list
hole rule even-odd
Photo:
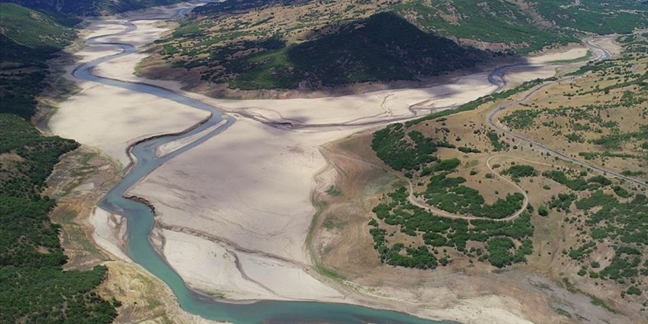
[{"label": "pale sandy flat enclosed by the river's sharp bend at left", "polygon": [[[115,32],[115,24],[95,23],[93,34],[103,28]],[[92,36],[93,34],[90,34]],[[75,53],[81,62],[114,54],[121,50],[111,47],[88,47]],[[70,71],[71,67],[67,67]],[[119,161],[122,167],[130,163],[126,147],[136,141],[160,133],[181,132],[209,115],[153,95],[119,87],[104,86],[68,76],[82,91],[59,105],[49,121],[56,135],[75,139],[84,145],[99,148]]]}]

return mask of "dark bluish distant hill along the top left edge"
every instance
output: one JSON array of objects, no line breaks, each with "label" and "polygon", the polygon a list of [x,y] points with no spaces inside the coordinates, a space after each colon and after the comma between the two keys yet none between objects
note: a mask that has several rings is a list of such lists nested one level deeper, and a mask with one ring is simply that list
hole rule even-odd
[{"label": "dark bluish distant hill along the top left edge", "polygon": [[148,6],[172,5],[180,0],[7,0],[10,3],[47,12],[75,16],[115,14]]}]

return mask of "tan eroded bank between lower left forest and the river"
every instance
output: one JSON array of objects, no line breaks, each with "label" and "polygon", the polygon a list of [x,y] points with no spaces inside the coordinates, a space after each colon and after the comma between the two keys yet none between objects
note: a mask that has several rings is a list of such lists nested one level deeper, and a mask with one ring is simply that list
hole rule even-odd
[{"label": "tan eroded bank between lower left forest and the river", "polygon": [[45,194],[57,200],[50,216],[62,228],[60,240],[68,257],[64,268],[89,270],[97,264],[108,267],[98,292],[106,299],[121,302],[115,323],[213,323],[181,310],[164,283],[128,261],[121,249],[121,234],[126,229],[121,216],[97,223],[97,215],[102,214],[95,207],[97,201],[120,178],[119,166],[113,160],[87,146],[65,154],[54,167]]}]

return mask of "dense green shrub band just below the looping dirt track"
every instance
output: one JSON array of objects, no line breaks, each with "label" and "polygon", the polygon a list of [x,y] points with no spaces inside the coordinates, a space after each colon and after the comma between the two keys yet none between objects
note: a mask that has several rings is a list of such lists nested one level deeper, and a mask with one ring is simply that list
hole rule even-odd
[{"label": "dense green shrub band just below the looping dirt track", "polygon": [[[531,214],[527,212],[511,222],[488,219],[468,221],[436,216],[409,203],[405,187],[384,196],[373,212],[377,219],[372,218],[369,222],[372,227],[369,233],[373,237],[374,248],[382,262],[392,265],[434,268],[437,266],[435,262],[445,265],[448,258],[444,256],[437,260],[431,250],[441,247],[454,248],[468,257],[475,257],[472,251],[466,251],[467,243],[473,241],[487,244],[486,242],[494,238],[507,238],[511,242],[518,240],[521,242],[520,248],[506,251],[493,249],[492,257],[491,252],[478,253],[478,260],[489,261],[494,266],[502,267],[526,261],[525,255],[533,251],[531,240],[528,239],[533,236],[533,225]],[[412,237],[421,237],[424,246],[405,247],[402,242],[393,242],[390,245],[388,238],[393,237],[393,232],[388,233],[390,228]]]}]

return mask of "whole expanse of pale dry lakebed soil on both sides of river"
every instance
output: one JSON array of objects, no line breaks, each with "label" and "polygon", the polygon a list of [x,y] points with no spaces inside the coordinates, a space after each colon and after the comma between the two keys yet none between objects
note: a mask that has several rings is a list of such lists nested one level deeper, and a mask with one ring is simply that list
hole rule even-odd
[{"label": "whole expanse of pale dry lakebed soil on both sides of river", "polygon": [[[172,10],[166,12],[171,14]],[[93,21],[86,36],[122,30],[121,21]],[[131,34],[108,36],[101,41],[141,47],[165,32],[156,21],[135,24],[138,29]],[[87,48],[77,54],[87,61],[114,52],[114,47],[106,46]],[[564,56],[577,55],[580,53]],[[95,73],[181,91],[175,82],[133,75],[143,56],[124,56],[100,65]],[[544,75],[550,73],[543,72]],[[531,76],[537,77],[528,75]],[[454,81],[424,89],[313,99],[219,100],[185,93],[231,111],[238,117],[237,122],[226,132],[157,168],[129,194],[146,198],[156,207],[154,242],[187,283],[206,292],[233,299],[362,303],[466,323],[524,323],[526,315],[520,313],[520,302],[496,294],[469,294],[455,297],[456,303],[452,303],[452,299],[446,298],[454,295],[452,286],[431,289],[395,284],[393,288],[380,288],[380,284],[368,282],[367,287],[353,283],[340,286],[321,278],[310,266],[304,243],[315,213],[311,192],[323,191],[333,179],[323,178],[319,183],[313,179],[327,165],[319,147],[365,127],[326,126],[291,131],[247,118],[253,115],[265,121],[310,125],[387,122],[393,117],[411,115],[410,107],[428,112],[462,104],[494,89],[485,73]],[[51,119],[52,132],[98,148],[122,167],[130,163],[125,152],[130,143],[150,135],[179,132],[207,116],[203,111],[150,95],[78,80],[76,84],[82,91],[62,102]],[[186,143],[175,144],[172,148]],[[113,257],[127,260],[119,253],[126,226],[121,217],[97,210],[91,224],[96,228],[93,237],[97,244]],[[362,240],[358,244],[368,242]],[[375,257],[367,261],[376,263]],[[392,271],[390,277],[404,270]],[[378,287],[372,286],[375,284]],[[349,286],[355,288],[350,290]],[[380,297],[370,294],[382,289],[385,292]]]}]

